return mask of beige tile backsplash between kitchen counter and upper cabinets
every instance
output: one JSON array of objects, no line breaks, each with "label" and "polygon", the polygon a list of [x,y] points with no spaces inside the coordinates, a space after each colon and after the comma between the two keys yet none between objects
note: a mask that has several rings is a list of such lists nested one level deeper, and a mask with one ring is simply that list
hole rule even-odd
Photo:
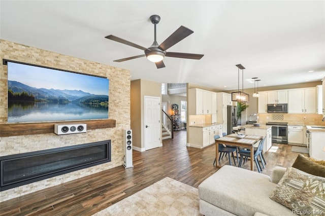
[{"label": "beige tile backsplash between kitchen counter and upper cabinets", "polygon": [[258,123],[265,124],[266,122],[287,122],[288,124],[301,125],[324,125],[322,122],[323,115],[320,114],[257,114]]}]

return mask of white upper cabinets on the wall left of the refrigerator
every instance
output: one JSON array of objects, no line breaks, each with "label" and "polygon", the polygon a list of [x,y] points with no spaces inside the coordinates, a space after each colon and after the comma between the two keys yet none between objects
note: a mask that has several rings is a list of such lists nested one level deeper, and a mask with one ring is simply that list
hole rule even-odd
[{"label": "white upper cabinets on the wall left of the refrigerator", "polygon": [[217,113],[216,93],[203,89],[188,89],[188,114],[204,115]]}]

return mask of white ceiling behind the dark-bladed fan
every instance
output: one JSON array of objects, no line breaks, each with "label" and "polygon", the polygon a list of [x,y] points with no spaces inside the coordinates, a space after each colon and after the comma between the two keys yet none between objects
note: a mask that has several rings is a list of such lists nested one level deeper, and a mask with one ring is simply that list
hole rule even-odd
[{"label": "white ceiling behind the dark-bladed fan", "polygon": [[[0,1],[1,39],[129,69],[132,80],[192,83],[218,90],[320,81],[325,77],[325,1]],[[104,37],[149,47],[179,26],[194,31],[169,52],[204,54],[201,60],[165,57],[157,69],[144,51]],[[313,70],[314,72],[308,73]],[[241,82],[240,82],[241,83]],[[227,86],[227,87],[224,87]],[[241,84],[240,84],[241,88]]]}]

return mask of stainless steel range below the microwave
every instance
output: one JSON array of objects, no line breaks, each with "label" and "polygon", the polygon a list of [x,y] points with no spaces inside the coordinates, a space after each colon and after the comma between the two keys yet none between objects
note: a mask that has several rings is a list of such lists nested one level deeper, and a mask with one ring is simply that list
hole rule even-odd
[{"label": "stainless steel range below the microwave", "polygon": [[272,125],[272,142],[288,143],[288,123],[287,122],[267,122]]}]

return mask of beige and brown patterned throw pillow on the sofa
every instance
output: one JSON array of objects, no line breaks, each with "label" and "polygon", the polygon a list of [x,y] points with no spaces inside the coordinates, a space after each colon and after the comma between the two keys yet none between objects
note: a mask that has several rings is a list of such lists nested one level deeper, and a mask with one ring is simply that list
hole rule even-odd
[{"label": "beige and brown patterned throw pillow on the sofa", "polygon": [[288,167],[270,198],[300,215],[325,214],[325,178]]}]

